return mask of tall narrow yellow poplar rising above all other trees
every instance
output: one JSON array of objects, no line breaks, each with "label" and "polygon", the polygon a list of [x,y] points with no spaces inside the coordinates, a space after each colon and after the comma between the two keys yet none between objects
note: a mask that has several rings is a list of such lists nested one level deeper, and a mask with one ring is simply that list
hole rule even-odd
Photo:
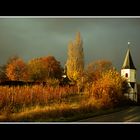
[{"label": "tall narrow yellow poplar rising above all other trees", "polygon": [[84,70],[83,41],[80,32],[76,34],[74,42],[71,41],[68,44],[66,67],[68,78],[73,82],[77,82],[81,78]]}]

